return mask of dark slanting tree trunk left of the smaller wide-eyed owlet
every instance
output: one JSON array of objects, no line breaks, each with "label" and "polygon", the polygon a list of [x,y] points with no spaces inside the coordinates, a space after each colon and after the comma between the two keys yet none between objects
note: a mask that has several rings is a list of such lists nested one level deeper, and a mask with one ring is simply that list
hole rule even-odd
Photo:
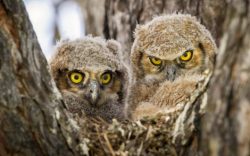
[{"label": "dark slanting tree trunk left of the smaller wide-eyed owlet", "polygon": [[23,1],[0,0],[0,155],[74,155],[77,136]]}]

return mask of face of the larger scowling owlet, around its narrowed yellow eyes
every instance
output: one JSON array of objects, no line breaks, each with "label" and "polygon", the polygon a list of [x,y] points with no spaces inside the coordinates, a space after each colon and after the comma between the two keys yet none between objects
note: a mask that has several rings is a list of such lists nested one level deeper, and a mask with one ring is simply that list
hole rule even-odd
[{"label": "face of the larger scowling owlet, around its narrowed yellow eyes", "polygon": [[142,53],[141,67],[143,77],[148,82],[159,82],[165,79],[174,81],[179,75],[197,72],[204,63],[202,49],[188,49],[178,55],[174,60],[164,60]]}]

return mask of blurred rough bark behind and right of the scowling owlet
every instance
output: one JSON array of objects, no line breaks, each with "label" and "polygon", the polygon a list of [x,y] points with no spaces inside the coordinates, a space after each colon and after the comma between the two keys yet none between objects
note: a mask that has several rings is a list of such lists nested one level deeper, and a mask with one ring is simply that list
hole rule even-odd
[{"label": "blurred rough bark behind and right of the scowling owlet", "polygon": [[219,47],[202,118],[199,155],[250,155],[250,1],[106,0],[104,35],[129,55],[136,24],[181,12],[200,19]]}]

